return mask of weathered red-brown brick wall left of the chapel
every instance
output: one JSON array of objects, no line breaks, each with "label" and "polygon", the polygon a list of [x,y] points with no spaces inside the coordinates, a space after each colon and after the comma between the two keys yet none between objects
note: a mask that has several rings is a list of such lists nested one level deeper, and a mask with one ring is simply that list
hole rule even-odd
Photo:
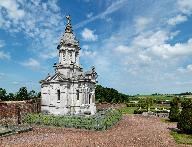
[{"label": "weathered red-brown brick wall left of the chapel", "polygon": [[25,114],[40,111],[40,100],[0,102],[0,125],[20,124]]}]

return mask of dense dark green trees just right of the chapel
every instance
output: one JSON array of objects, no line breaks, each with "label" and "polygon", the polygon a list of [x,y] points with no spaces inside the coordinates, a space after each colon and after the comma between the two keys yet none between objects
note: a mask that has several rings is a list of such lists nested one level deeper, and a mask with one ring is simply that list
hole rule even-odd
[{"label": "dense dark green trees just right of the chapel", "polygon": [[99,103],[126,103],[129,101],[129,96],[118,92],[114,88],[107,88],[101,85],[96,85],[95,99]]}]

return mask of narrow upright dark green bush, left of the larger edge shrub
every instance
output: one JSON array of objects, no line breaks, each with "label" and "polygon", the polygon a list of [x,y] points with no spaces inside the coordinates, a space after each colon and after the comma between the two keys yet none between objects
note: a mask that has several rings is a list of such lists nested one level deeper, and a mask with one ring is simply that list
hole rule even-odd
[{"label": "narrow upright dark green bush, left of the larger edge shrub", "polygon": [[170,121],[177,122],[179,119],[179,98],[175,97],[172,102],[170,103],[171,109],[169,113]]}]

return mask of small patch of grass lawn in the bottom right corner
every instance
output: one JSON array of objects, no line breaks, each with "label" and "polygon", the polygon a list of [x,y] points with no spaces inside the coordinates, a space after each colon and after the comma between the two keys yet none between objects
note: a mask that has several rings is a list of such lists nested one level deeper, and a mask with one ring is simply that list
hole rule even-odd
[{"label": "small patch of grass lawn in the bottom right corner", "polygon": [[171,131],[171,135],[175,141],[179,144],[191,144],[192,145],[192,134],[184,134],[177,131]]}]

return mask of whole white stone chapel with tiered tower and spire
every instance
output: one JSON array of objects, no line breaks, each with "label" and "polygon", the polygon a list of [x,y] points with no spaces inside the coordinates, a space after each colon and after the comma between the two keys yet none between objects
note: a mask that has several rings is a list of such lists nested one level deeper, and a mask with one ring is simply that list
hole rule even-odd
[{"label": "whole white stone chapel with tiered tower and spire", "polygon": [[92,67],[83,72],[80,67],[80,46],[73,34],[70,16],[59,45],[59,62],[55,74],[41,80],[42,112],[58,115],[95,114],[95,84],[97,73]]}]

